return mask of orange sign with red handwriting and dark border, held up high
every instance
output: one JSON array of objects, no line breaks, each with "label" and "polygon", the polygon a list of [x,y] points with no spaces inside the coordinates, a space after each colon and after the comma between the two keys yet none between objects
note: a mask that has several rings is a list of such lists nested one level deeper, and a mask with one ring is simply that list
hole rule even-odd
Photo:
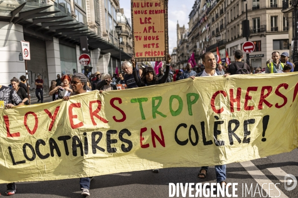
[{"label": "orange sign with red handwriting and dark border, held up high", "polygon": [[136,61],[162,61],[168,54],[167,0],[131,0]]}]

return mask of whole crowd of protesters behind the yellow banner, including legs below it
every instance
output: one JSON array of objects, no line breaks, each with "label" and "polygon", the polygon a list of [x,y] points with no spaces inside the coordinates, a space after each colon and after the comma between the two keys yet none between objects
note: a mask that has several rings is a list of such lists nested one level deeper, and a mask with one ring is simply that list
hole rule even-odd
[{"label": "whole crowd of protesters behind the yellow banner, including legs below it", "polygon": [[[52,96],[53,101],[57,99],[69,100],[71,96],[79,95],[82,93],[98,90],[100,93],[112,90],[131,89],[137,87],[147,87],[157,84],[163,84],[182,79],[195,79],[195,77],[204,76],[228,76],[235,74],[261,74],[261,73],[287,73],[298,71],[298,62],[289,62],[289,54],[283,52],[272,52],[272,60],[267,61],[264,68],[251,67],[242,61],[243,52],[236,50],[234,53],[235,62],[229,65],[217,64],[215,55],[212,52],[205,52],[202,55],[202,63],[199,67],[193,68],[190,63],[183,69],[176,69],[173,71],[171,68],[171,56],[165,57],[165,69],[160,67],[157,71],[147,65],[137,68],[135,58],[132,57],[131,61],[124,61],[121,65],[122,73],[101,74],[99,71],[86,77],[82,73],[76,73],[72,76],[57,75],[56,80],[52,80],[49,96]],[[10,80],[10,87],[0,86],[0,103],[5,108],[11,108],[15,105],[28,104],[27,87],[25,85],[26,77],[21,76],[20,81],[17,78]],[[35,81],[36,97],[38,101],[43,102],[43,80],[41,76]],[[40,96],[39,96],[40,95]],[[226,185],[226,171],[225,165],[216,166],[217,182],[221,185]],[[206,178],[208,166],[202,167],[199,171],[199,178]],[[154,169],[153,172],[158,172]],[[79,184],[81,187],[82,195],[88,196],[90,181],[92,178],[80,178]],[[7,184],[7,195],[13,195],[16,192],[14,183]]]}]

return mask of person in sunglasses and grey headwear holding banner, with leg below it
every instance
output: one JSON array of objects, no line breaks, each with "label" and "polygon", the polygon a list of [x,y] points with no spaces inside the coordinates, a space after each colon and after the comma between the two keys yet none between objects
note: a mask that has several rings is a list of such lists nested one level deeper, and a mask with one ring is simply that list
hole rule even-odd
[{"label": "person in sunglasses and grey headwear holding banner, with leg below it", "polygon": [[[71,85],[73,89],[73,96],[83,94],[86,92],[91,92],[90,88],[87,86],[87,77],[82,73],[76,73],[72,77]],[[69,96],[63,97],[63,100],[69,100]],[[82,191],[81,195],[89,196],[90,181],[93,177],[83,177],[79,179],[80,189]]]}]

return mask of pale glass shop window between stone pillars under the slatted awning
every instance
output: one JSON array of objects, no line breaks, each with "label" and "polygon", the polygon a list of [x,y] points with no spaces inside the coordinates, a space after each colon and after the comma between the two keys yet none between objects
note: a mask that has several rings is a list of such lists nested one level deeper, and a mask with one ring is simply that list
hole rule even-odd
[{"label": "pale glass shop window between stone pillars under the slatted awning", "polygon": [[71,77],[77,72],[75,48],[59,44],[62,75]]}]

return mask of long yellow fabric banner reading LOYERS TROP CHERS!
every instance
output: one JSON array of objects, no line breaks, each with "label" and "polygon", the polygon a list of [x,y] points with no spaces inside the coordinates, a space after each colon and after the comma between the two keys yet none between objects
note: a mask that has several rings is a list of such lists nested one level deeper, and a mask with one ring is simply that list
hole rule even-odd
[{"label": "long yellow fabric banner reading LOYERS TROP CHERS!", "polygon": [[298,145],[298,73],[200,77],[0,109],[0,183],[227,164]]}]

